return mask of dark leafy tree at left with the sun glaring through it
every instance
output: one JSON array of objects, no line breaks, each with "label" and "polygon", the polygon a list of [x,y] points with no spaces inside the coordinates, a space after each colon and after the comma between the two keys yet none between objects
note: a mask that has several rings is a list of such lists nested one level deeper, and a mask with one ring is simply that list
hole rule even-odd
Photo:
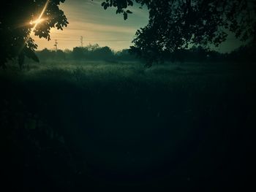
[{"label": "dark leafy tree at left with the sun glaring through it", "polygon": [[0,66],[8,60],[18,58],[20,66],[24,57],[39,61],[34,50],[37,45],[30,37],[34,33],[40,38],[50,40],[50,28],[61,29],[67,26],[67,18],[59,9],[65,0],[4,0],[1,1]]}]

